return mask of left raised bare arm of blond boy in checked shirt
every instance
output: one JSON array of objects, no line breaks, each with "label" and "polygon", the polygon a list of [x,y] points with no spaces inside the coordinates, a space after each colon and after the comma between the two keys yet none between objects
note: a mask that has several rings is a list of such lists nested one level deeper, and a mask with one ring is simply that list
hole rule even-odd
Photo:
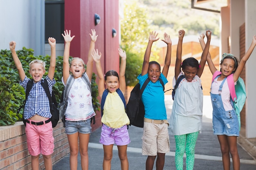
[{"label": "left raised bare arm of blond boy in checked shirt", "polygon": [[12,55],[13,61],[15,63],[15,66],[16,66],[17,70],[18,70],[18,73],[20,75],[20,80],[23,81],[26,77],[26,74],[25,74],[24,69],[22,68],[22,64],[21,64],[21,62],[18,58],[18,55],[15,51],[16,42],[11,41],[11,42],[9,42],[9,45],[10,45],[10,50],[11,50],[11,55]]}]

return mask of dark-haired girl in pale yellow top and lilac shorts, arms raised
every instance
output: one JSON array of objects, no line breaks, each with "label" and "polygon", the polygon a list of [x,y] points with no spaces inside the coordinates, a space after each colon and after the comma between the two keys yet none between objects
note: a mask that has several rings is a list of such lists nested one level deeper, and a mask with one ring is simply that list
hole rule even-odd
[{"label": "dark-haired girl in pale yellow top and lilac shorts, arms raised", "polygon": [[121,57],[119,76],[116,71],[110,70],[106,73],[105,78],[100,62],[101,53],[98,53],[98,50],[94,50],[92,53],[99,77],[99,96],[102,98],[103,92],[105,91],[105,85],[108,90],[108,95],[103,108],[104,114],[101,118],[103,126],[101,128],[100,143],[103,144],[104,150],[103,170],[111,169],[112,150],[114,144],[116,144],[118,148],[121,170],[128,170],[129,168],[126,150],[127,145],[130,143],[127,130],[127,125],[130,124],[130,120],[126,115],[122,99],[117,94],[117,90],[120,89],[124,95],[126,89],[124,76],[126,69],[126,53],[122,49],[118,49],[118,51],[119,56]]}]

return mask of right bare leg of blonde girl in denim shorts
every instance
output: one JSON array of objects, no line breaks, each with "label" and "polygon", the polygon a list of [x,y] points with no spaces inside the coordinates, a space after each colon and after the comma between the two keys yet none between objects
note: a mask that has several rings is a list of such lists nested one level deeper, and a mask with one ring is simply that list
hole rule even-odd
[{"label": "right bare leg of blonde girl in denim shorts", "polygon": [[89,159],[88,159],[88,144],[90,134],[79,133],[79,151],[81,155],[81,167],[82,170],[88,170]]}]

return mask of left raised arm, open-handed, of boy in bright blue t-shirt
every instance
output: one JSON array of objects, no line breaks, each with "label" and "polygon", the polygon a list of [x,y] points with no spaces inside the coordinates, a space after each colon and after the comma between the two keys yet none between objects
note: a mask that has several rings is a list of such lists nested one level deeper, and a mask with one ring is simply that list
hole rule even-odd
[{"label": "left raised arm, open-handed, of boy in bright blue t-shirt", "polygon": [[145,55],[144,55],[144,61],[143,61],[143,65],[142,65],[142,71],[141,71],[141,75],[145,75],[146,73],[148,73],[148,63],[149,63],[149,57],[150,57],[150,53],[151,53],[151,47],[153,42],[159,40],[159,38],[157,38],[158,33],[156,32],[151,32],[149,33],[149,38],[148,38],[148,46],[146,48],[145,51]]}]

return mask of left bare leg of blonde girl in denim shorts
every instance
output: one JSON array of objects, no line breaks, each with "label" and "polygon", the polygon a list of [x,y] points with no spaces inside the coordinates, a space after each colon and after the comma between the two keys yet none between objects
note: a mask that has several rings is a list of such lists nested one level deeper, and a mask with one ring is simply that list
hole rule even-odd
[{"label": "left bare leg of blonde girl in denim shorts", "polygon": [[70,170],[77,170],[78,132],[67,135],[67,139],[70,145]]}]

